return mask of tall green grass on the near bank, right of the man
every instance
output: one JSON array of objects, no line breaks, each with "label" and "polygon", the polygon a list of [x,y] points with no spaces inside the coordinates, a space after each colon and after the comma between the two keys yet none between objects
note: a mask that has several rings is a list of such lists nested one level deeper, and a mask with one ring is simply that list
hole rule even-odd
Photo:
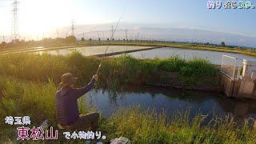
[{"label": "tall green grass on the near bank, right of the man", "polygon": [[256,130],[248,120],[238,128],[230,118],[214,118],[202,126],[206,115],[189,120],[190,110],[176,111],[171,121],[166,114],[154,110],[142,111],[139,106],[119,110],[103,126],[110,138],[126,136],[134,143],[255,143]]}]

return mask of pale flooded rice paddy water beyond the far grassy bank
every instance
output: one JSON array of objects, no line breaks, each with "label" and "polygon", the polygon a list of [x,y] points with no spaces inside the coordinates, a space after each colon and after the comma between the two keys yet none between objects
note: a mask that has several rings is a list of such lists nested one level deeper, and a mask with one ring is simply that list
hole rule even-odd
[{"label": "pale flooded rice paddy water beyond the far grassy bank", "polygon": [[[141,50],[150,48],[150,46],[109,46],[107,53],[114,53],[126,50]],[[85,56],[90,56],[94,54],[104,54],[106,50],[106,46],[86,46],[86,47],[76,47],[76,48],[67,48],[60,50],[46,50],[36,52],[38,54],[48,53],[54,55],[66,55],[71,54],[74,51],[79,51]],[[133,53],[129,53],[130,55],[136,58],[169,58],[174,55],[178,55],[181,58],[191,59],[191,58],[204,58],[209,60],[213,64],[220,65],[222,62],[222,54],[230,55],[234,58],[247,59],[250,61],[256,61],[256,58],[252,58],[249,56],[245,56],[242,54],[233,54],[233,53],[224,53],[218,51],[208,51],[208,50],[189,50],[189,49],[178,49],[171,47],[163,47],[154,50],[142,50]],[[118,57],[116,55],[115,57]]]}]

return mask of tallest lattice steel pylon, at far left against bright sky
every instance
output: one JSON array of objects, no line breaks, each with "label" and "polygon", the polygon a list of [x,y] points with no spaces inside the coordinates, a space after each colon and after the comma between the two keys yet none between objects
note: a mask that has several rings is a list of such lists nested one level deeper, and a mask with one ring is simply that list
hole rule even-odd
[{"label": "tallest lattice steel pylon, at far left against bright sky", "polygon": [[12,26],[11,26],[11,38],[14,39],[14,42],[18,39],[19,30],[18,30],[18,1],[14,0],[13,5],[13,18],[12,18]]}]

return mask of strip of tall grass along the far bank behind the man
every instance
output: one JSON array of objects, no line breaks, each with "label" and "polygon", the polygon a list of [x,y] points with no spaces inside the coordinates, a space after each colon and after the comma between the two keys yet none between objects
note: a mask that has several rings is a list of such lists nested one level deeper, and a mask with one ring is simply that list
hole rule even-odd
[{"label": "strip of tall grass along the far bank behind the man", "polygon": [[[98,70],[100,58],[84,57],[74,53],[67,56],[50,54],[6,54],[0,57],[0,74],[30,81],[58,84],[62,74],[71,72],[85,84]],[[100,70],[100,86],[142,85],[156,80],[165,80],[160,72],[178,72],[182,86],[195,86],[202,77],[218,79],[218,68],[203,59],[186,61],[177,56],[166,59],[137,59],[124,55],[105,58]],[[217,83],[216,81],[215,83]]]}]

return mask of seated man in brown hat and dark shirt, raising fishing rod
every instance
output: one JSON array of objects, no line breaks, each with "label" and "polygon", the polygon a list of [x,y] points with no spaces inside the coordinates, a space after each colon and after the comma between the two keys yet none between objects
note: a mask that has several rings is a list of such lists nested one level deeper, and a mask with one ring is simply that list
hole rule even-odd
[{"label": "seated man in brown hat and dark shirt, raising fishing rod", "polygon": [[90,114],[79,114],[78,98],[92,90],[94,83],[98,81],[98,74],[95,74],[87,86],[74,88],[74,78],[72,74],[62,75],[61,87],[55,96],[57,119],[59,124],[66,130],[89,130],[95,131],[98,126],[99,114],[97,112]]}]

